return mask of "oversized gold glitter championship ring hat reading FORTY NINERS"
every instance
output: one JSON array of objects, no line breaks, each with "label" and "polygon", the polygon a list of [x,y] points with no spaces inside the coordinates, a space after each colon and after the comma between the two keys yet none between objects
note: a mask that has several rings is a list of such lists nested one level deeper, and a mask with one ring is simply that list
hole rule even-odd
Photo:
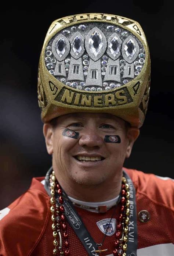
[{"label": "oversized gold glitter championship ring hat reading FORTY NINERS", "polygon": [[139,128],[149,89],[149,49],[138,22],[99,13],[52,22],[39,61],[43,122],[74,112],[109,113]]}]

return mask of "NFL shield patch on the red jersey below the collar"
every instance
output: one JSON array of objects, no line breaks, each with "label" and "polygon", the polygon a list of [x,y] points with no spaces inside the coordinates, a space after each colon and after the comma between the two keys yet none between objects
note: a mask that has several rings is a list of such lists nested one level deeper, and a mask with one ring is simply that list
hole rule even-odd
[{"label": "NFL shield patch on the red jersey below the collar", "polygon": [[97,222],[97,226],[102,233],[111,236],[116,231],[116,219],[113,218],[111,221],[110,218],[100,220]]}]

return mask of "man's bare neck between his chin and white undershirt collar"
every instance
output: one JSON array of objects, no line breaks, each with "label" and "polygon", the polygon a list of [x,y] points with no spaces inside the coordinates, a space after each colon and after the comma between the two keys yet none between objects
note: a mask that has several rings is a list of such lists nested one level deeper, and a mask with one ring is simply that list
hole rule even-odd
[{"label": "man's bare neck between his chin and white undershirt collar", "polygon": [[[54,167],[53,167],[54,168]],[[122,185],[122,170],[116,172],[115,177],[97,185],[84,185],[70,180],[67,177],[62,177],[58,170],[54,168],[55,176],[64,189],[66,194],[74,199],[84,202],[104,202],[116,198],[121,190]]]}]

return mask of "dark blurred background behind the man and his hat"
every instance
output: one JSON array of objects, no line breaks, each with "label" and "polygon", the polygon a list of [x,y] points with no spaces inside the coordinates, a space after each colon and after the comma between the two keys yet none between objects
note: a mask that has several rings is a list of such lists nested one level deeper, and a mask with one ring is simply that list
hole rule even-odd
[{"label": "dark blurred background behind the man and his hat", "polygon": [[108,13],[142,26],[152,61],[151,93],[141,134],[125,167],[174,178],[174,30],[171,1],[49,1],[5,4],[0,11],[0,209],[51,166],[40,109],[37,68],[52,21],[80,13]]}]

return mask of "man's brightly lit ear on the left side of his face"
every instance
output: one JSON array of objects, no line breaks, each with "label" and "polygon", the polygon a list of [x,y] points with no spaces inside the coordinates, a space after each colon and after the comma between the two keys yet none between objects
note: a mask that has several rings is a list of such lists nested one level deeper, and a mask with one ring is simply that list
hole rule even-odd
[{"label": "man's brightly lit ear on the left side of his face", "polygon": [[46,147],[48,154],[53,153],[53,128],[51,124],[46,123],[43,125],[43,134],[45,137]]}]

